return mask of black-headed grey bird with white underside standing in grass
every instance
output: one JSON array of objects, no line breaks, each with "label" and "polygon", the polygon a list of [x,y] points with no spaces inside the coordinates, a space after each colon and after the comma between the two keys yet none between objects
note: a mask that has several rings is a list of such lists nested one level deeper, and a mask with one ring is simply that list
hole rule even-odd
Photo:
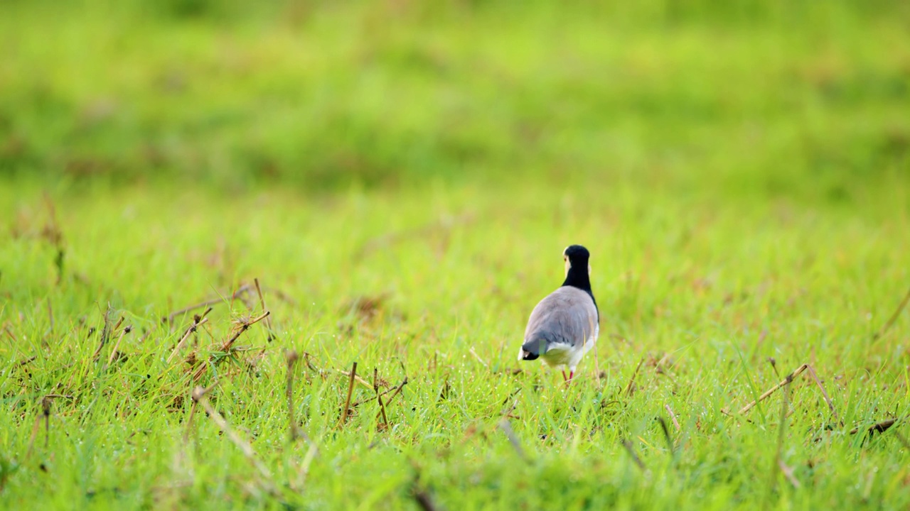
[{"label": "black-headed grey bird with white underside standing in grass", "polygon": [[601,313],[591,292],[590,257],[581,245],[569,245],[562,251],[565,281],[531,311],[519,351],[519,360],[542,358],[548,366],[561,369],[567,385],[600,334]]}]

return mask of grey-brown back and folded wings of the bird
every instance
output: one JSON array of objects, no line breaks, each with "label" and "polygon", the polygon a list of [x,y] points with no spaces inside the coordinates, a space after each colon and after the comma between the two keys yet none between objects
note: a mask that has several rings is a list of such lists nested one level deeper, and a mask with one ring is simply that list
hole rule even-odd
[{"label": "grey-brown back and folded wings of the bird", "polygon": [[597,331],[597,321],[597,307],[591,296],[577,287],[562,286],[531,311],[524,342],[583,346]]}]

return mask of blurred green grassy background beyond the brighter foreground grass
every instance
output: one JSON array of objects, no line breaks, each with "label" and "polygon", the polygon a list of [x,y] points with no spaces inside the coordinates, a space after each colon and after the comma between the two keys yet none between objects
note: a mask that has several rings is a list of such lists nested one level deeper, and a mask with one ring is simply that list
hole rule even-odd
[{"label": "blurred green grassy background beyond the brighter foreground grass", "polygon": [[908,182],[908,24],[888,0],[7,0],[0,176],[876,202]]}]

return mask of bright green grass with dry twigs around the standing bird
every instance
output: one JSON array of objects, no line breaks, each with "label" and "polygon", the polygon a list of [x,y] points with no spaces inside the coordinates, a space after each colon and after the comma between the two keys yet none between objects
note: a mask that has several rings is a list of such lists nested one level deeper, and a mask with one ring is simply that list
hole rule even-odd
[{"label": "bright green grass with dry twigs around the standing bird", "polygon": [[[502,201],[499,191],[64,196],[56,202],[66,247],[59,285],[55,249],[40,235],[48,218],[40,196],[5,192],[19,233],[5,233],[0,253],[9,331],[0,432],[5,464],[15,467],[0,494],[5,506],[276,506],[210,419],[197,415],[187,429],[196,384],[182,357],[166,359],[189,319],[159,323],[253,277],[278,339],[269,343],[266,328],[252,326],[238,340],[250,351],[197,383],[218,382],[215,406],[293,506],[413,507],[417,472],[449,508],[907,505],[910,474],[894,433],[903,427],[865,442],[848,434],[907,414],[906,313],[872,340],[910,277],[900,248],[907,215],[881,222],[855,211],[687,205],[660,194],[608,201],[583,189],[512,190]],[[559,284],[560,250],[572,242],[593,254],[602,337],[597,360],[588,356],[564,390],[561,376],[514,354],[531,307]],[[379,300],[373,316],[352,305],[364,298]],[[88,330],[103,327],[108,303],[134,331],[119,346],[126,359],[106,368],[112,348],[94,362],[99,338]],[[206,359],[231,319],[254,309],[215,306],[211,337],[193,338],[184,356]],[[294,413],[318,448],[305,477],[308,444],[288,443],[289,349],[321,370],[296,370]],[[769,356],[782,373],[812,364],[844,426],[806,377],[794,382],[785,425],[781,395],[749,421],[723,416],[779,380]],[[368,379],[378,369],[389,386],[408,376],[388,428],[377,430],[375,402],[336,427],[348,386],[337,371],[353,362]],[[353,398],[371,393],[357,386]],[[46,394],[72,398],[53,401],[49,445],[39,427],[29,453]],[[527,460],[498,429],[511,404]],[[664,406],[681,426],[671,431],[675,454],[654,421],[669,420]],[[781,456],[800,489],[773,466],[782,428]]]}]

